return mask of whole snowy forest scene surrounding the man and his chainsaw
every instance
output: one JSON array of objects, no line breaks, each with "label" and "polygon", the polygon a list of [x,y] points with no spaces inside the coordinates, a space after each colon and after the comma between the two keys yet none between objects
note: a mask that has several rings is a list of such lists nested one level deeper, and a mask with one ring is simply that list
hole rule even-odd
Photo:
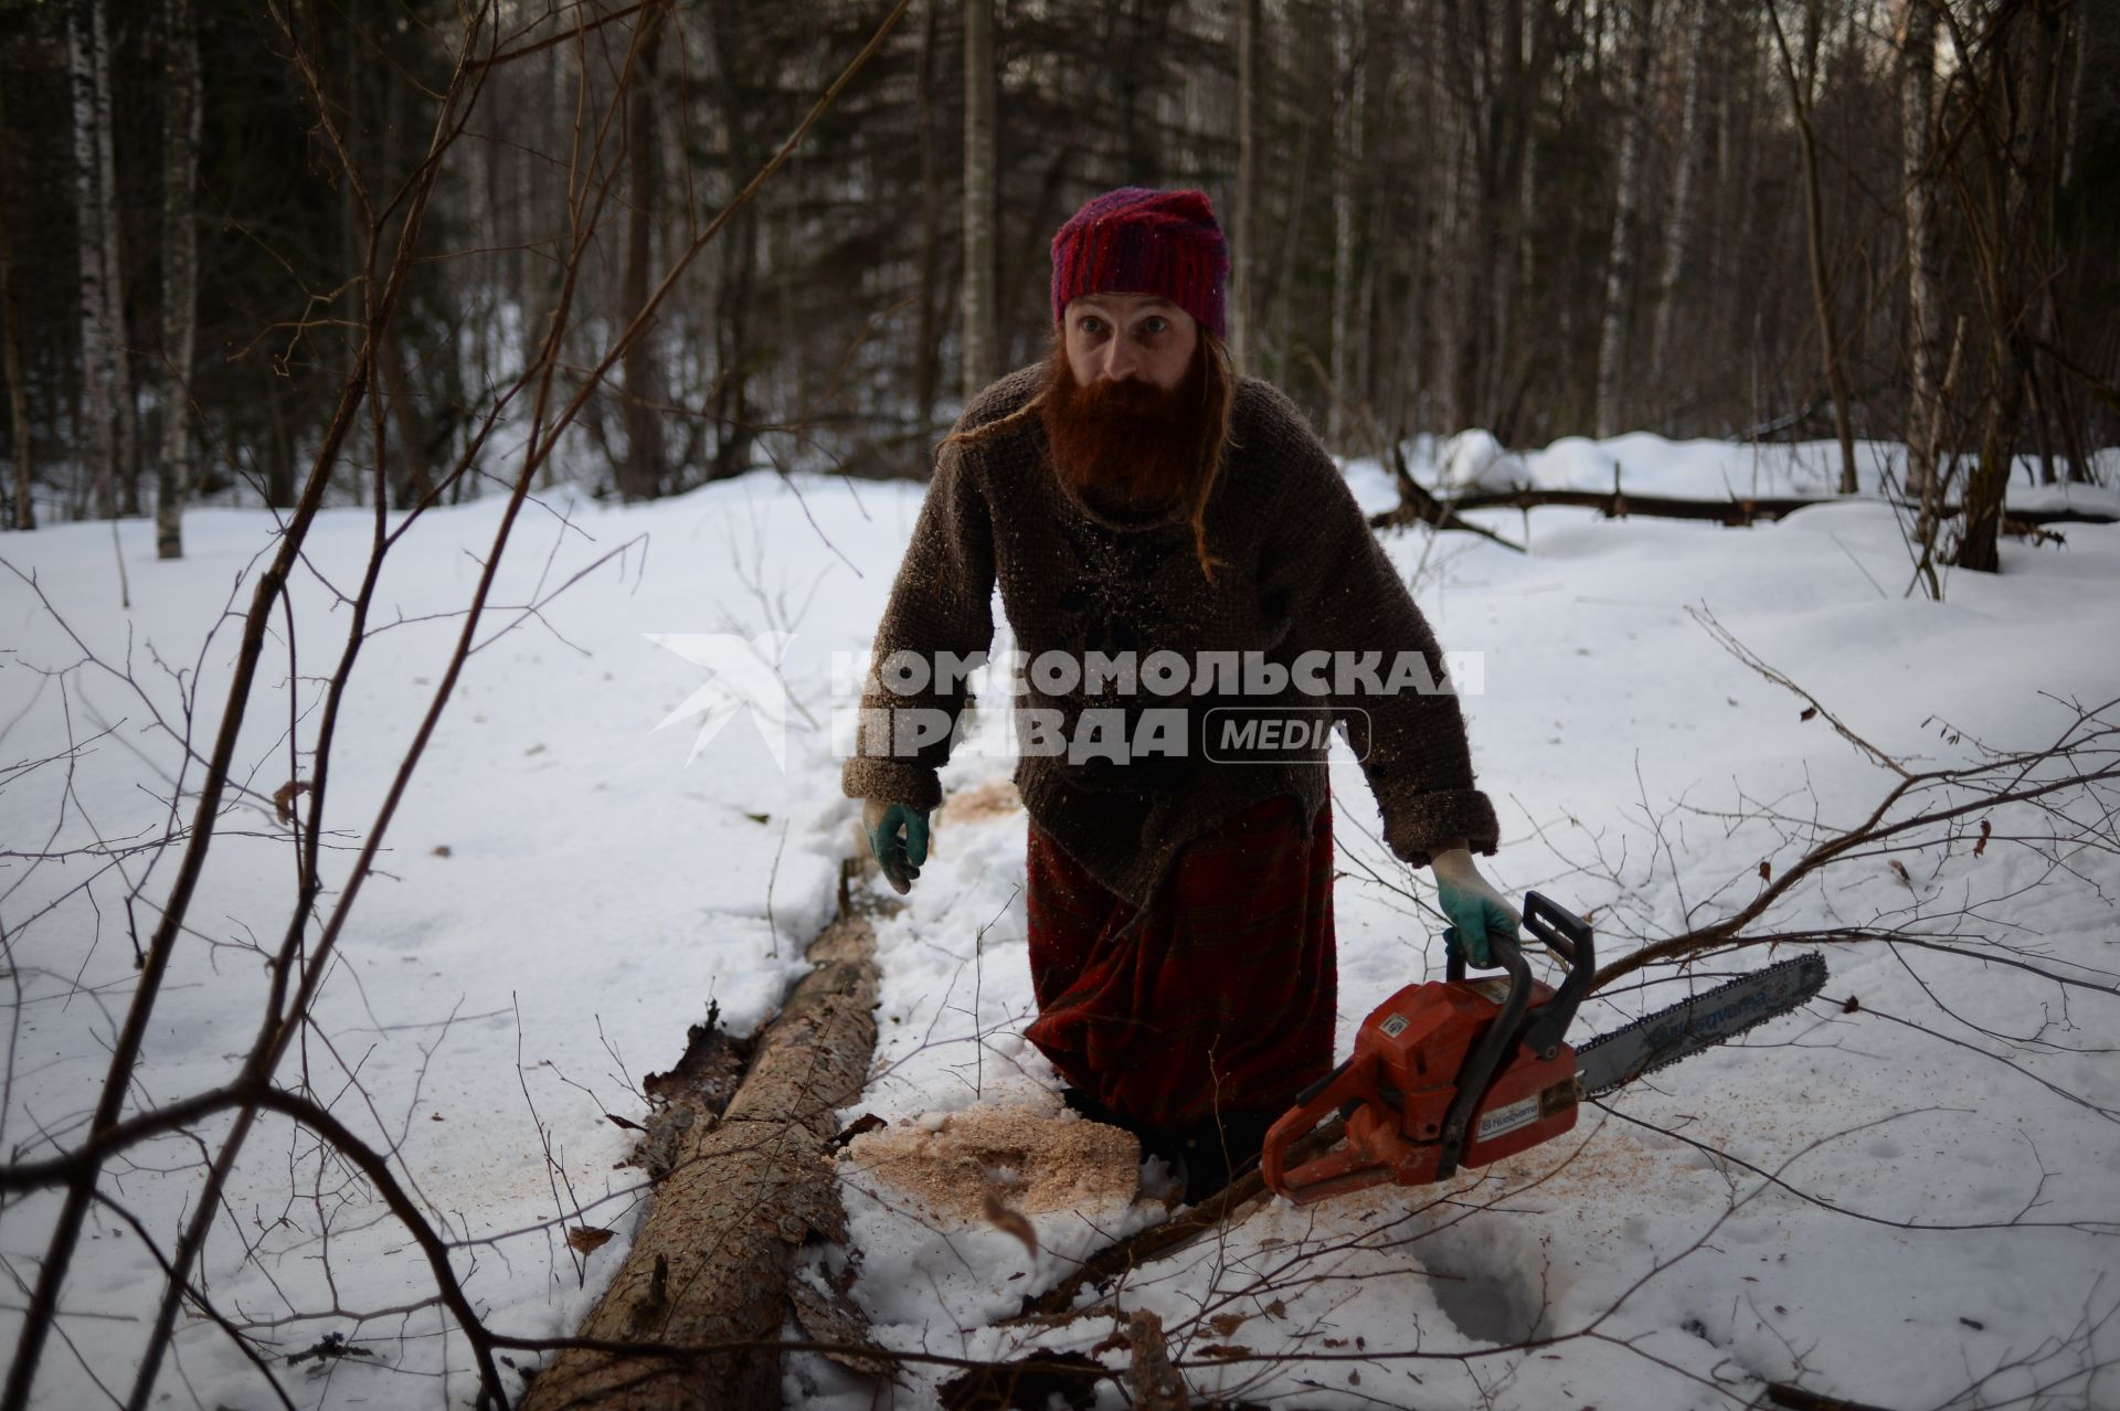
[{"label": "whole snowy forest scene surrounding the man and his chainsaw", "polygon": [[[2112,0],[0,0],[0,1411],[2120,1405],[2114,74]],[[1319,1203],[1062,1104],[999,667],[909,892],[844,718],[1119,186],[1452,653],[1569,1042],[1823,989]],[[1331,750],[1342,1059],[1454,913]]]}]

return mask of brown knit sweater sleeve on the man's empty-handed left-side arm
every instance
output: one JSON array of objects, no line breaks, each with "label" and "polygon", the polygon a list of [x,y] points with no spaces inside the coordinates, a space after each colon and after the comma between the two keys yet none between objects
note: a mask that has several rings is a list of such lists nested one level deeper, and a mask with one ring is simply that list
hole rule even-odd
[{"label": "brown knit sweater sleeve on the man's empty-handed left-side arm", "polygon": [[[946,653],[965,661],[992,646],[992,597],[994,525],[988,502],[967,466],[965,447],[946,445],[935,458],[935,479],[876,629],[854,754],[840,775],[840,788],[850,799],[916,809],[941,803],[937,771],[950,761],[952,733],[971,691],[962,672],[935,667],[943,665]],[[880,672],[895,653],[912,653],[920,667],[893,676],[895,686],[886,689]],[[937,731],[943,720],[948,729]]]}]

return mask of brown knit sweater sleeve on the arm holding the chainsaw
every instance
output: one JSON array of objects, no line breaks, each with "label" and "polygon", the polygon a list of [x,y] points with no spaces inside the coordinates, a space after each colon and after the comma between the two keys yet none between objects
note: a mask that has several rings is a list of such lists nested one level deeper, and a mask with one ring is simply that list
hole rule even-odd
[{"label": "brown knit sweater sleeve on the arm holding the chainsaw", "polygon": [[[1287,411],[1300,417],[1293,405]],[[1287,513],[1278,515],[1278,530],[1268,540],[1264,587],[1268,602],[1287,612],[1289,655],[1336,655],[1333,714],[1346,722],[1348,744],[1361,756],[1384,820],[1384,843],[1414,867],[1427,867],[1450,839],[1492,854],[1501,826],[1495,805],[1473,786],[1465,716],[1448,689],[1435,633],[1340,468],[1308,428],[1287,460],[1293,462],[1283,500]],[[1416,684],[1380,693],[1376,682],[1391,684],[1401,653],[1423,659],[1406,663]],[[1342,661],[1367,661],[1374,676],[1342,672]],[[1435,686],[1423,691],[1425,682]]]}]

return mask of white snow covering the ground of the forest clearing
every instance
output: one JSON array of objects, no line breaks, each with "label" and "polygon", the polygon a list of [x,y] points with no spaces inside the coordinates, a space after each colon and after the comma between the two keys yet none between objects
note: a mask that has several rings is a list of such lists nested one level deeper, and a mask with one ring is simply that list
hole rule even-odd
[{"label": "white snow covering the ground of the forest clearing", "polygon": [[[1478,479],[1478,447],[1456,451],[1444,449],[1448,472]],[[1643,492],[1779,494],[1819,487],[1830,449],[1637,434],[1505,460],[1503,479],[1541,485],[1609,487],[1620,460]],[[1348,475],[1367,506],[1393,502],[1376,466]],[[2116,504],[2112,489],[2071,494]],[[856,845],[827,729],[846,703],[833,659],[867,646],[918,504],[914,485],[757,475],[638,508],[560,489],[517,530],[505,608],[488,612],[390,826],[316,1036],[282,1070],[303,1066],[343,1121],[396,1150],[460,1242],[456,1265],[494,1326],[553,1335],[589,1307],[642,1201],[640,1174],[617,1167],[630,1133],[604,1114],[640,1117],[642,1074],[678,1057],[708,1004],[755,1025],[829,917]],[[437,511],[390,559],[390,627],[363,650],[322,820],[333,888],[430,699],[498,515],[498,502]],[[1743,532],[1560,508],[1486,523],[1529,553],[1425,532],[1389,549],[1444,646],[1484,655],[1467,716],[1503,816],[1488,875],[1594,911],[1607,958],[1741,907],[1762,862],[1779,875],[1796,860],[1798,828],[1851,826],[1895,782],[1827,718],[1802,718],[1802,701],[1724,650],[1711,623],[1919,767],[1972,763],[1976,742],[2042,746],[2069,703],[2120,697],[2120,528],[2067,525],[2065,547],[2006,542],[2001,576],[1955,574],[1931,604],[1904,593],[1906,549],[1878,502]],[[363,511],[326,513],[276,621],[237,752],[246,792],[191,909],[144,1097],[229,1078],[252,1040],[269,981],[259,947],[278,943],[293,896],[271,794],[310,778],[288,733],[301,750],[314,739],[320,676],[348,625],[339,595],[371,530]],[[159,564],[153,525],[123,523],[129,610],[108,525],[0,542],[36,581],[0,572],[11,1159],[78,1140],[134,981],[123,896],[142,883],[146,934],[174,873],[174,856],[59,854],[159,833],[182,752],[155,718],[182,729],[197,682],[191,735],[199,750],[210,742],[233,655],[227,612],[248,600],[244,574],[269,534],[265,513],[199,511],[191,555]],[[655,729],[708,678],[697,653],[655,638],[774,631],[793,633],[784,765],[746,714],[697,750],[697,716]],[[134,682],[106,669],[127,661]],[[844,657],[840,667],[844,678]],[[946,784],[992,799],[982,786],[1009,765],[967,752]],[[195,780],[193,763],[184,786]],[[1425,875],[1384,852],[1350,758],[1333,792],[1344,1051],[1372,1004],[1439,972],[1442,947],[1416,905]],[[1439,1191],[1261,1210],[1083,1305],[1158,1311],[1202,1396],[1289,1407],[1736,1407],[1766,1381],[1885,1407],[2120,1403],[2120,862],[2080,850],[2048,867],[2012,841],[2037,818],[1999,809],[1980,856],[1969,841],[1948,858],[1904,854],[1906,877],[1893,856],[1849,860],[1762,928],[1955,926],[2088,987],[2001,964],[1993,947],[1830,945],[1825,1000],[1632,1085],[1567,1140]],[[1056,1110],[1054,1076],[1020,1038],[1032,1011],[1022,850],[1020,811],[939,818],[935,860],[880,928],[882,1047],[848,1117]],[[1611,1028],[1685,983],[1624,989],[1582,1023]],[[157,1144],[114,1189],[167,1237],[195,1161],[189,1142]],[[1160,1214],[1121,1201],[1039,1214],[1032,1256],[982,1220],[912,1212],[852,1165],[846,1193],[863,1261],[852,1292],[878,1337],[971,1358],[1100,1343],[1109,1314],[1047,1328],[994,1320]],[[373,1354],[282,1362],[299,1405],[466,1403],[464,1345],[363,1182],[267,1121],[227,1205],[204,1265],[216,1305],[278,1354],[331,1333]],[[0,1337],[53,1210],[53,1197],[4,1208]],[[564,1229],[583,1222],[617,1237],[581,1256]],[[66,1341],[45,1356],[42,1405],[100,1405],[98,1383],[123,1396],[157,1294],[153,1256],[100,1212],[68,1286]],[[946,1375],[909,1369],[897,1405],[931,1405]],[[787,1377],[791,1405],[869,1405],[816,1358],[791,1358]],[[172,1405],[269,1398],[225,1335],[191,1318],[161,1390]],[[1109,1381],[1100,1405],[1124,1405]]]}]

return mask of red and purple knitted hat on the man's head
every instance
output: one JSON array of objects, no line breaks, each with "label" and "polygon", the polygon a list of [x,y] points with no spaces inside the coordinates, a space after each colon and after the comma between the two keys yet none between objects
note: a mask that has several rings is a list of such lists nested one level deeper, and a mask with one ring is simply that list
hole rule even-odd
[{"label": "red and purple knitted hat on the man's head", "polygon": [[1227,337],[1230,242],[1204,191],[1119,186],[1054,235],[1054,322],[1077,294],[1160,294]]}]

